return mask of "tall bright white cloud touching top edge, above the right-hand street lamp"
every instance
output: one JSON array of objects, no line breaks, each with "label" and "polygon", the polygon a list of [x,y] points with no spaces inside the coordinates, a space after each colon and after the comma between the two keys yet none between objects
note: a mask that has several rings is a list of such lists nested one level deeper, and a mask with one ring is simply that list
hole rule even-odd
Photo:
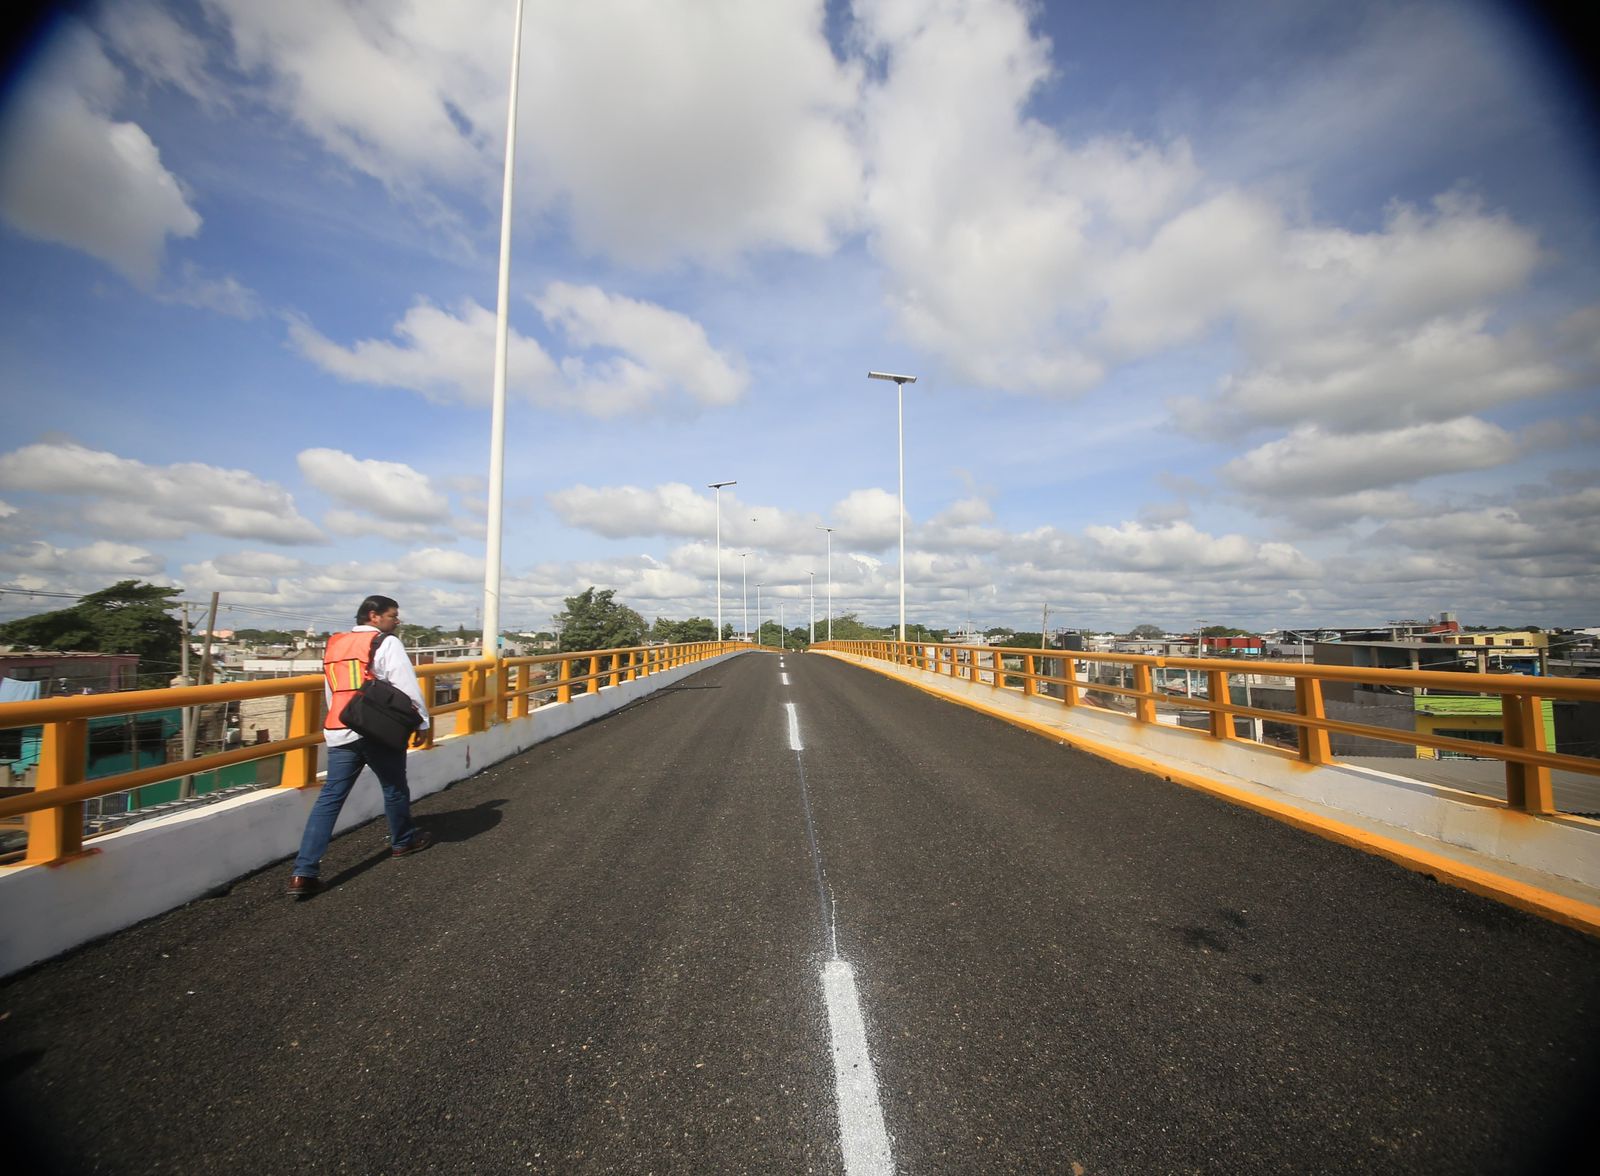
[{"label": "tall bright white cloud touching top edge, above the right-hand street lamp", "polygon": [[867,51],[886,59],[862,104],[867,211],[901,330],[978,384],[1091,386],[1101,366],[1062,328],[1091,309],[1096,218],[1126,224],[1106,205],[1136,187],[1136,219],[1149,219],[1184,187],[1187,152],[1104,141],[1074,155],[1026,118],[1050,54],[1013,3],[856,14]]}]

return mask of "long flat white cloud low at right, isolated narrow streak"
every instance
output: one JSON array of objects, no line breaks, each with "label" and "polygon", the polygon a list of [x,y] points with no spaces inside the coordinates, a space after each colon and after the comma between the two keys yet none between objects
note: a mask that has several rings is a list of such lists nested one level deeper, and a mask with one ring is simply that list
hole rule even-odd
[{"label": "long flat white cloud low at right, isolated narrow streak", "polygon": [[1222,478],[1251,494],[1294,499],[1493,469],[1518,454],[1509,432],[1477,418],[1373,434],[1331,434],[1302,426],[1227,462]]}]

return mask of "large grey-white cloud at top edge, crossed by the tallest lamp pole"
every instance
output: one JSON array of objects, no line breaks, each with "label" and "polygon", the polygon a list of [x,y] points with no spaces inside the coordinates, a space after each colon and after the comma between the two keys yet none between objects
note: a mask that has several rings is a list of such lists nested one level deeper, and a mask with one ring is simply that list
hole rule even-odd
[{"label": "large grey-white cloud at top edge, crossed by the tallest lamp pole", "polygon": [[[349,166],[413,195],[498,192],[506,5],[205,5],[261,96]],[[858,75],[834,58],[819,0],[594,0],[530,5],[525,21],[520,195],[558,210],[587,251],[826,253],[848,227]]]}]

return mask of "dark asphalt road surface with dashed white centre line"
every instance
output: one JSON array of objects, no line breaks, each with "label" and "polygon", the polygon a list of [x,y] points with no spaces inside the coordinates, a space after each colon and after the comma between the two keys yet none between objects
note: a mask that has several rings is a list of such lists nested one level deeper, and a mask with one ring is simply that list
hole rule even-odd
[{"label": "dark asphalt road surface with dashed white centre line", "polygon": [[822,656],[416,808],[0,984],[0,1168],[1595,1158],[1600,942]]}]

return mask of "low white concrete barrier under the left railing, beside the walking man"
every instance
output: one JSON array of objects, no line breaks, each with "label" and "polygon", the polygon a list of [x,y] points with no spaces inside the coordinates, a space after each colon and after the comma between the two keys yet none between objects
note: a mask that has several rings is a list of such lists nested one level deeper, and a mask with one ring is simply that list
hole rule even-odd
[{"label": "low white concrete barrier under the left railing, beside the walking man", "polygon": [[[411,797],[440,792],[739,653],[746,651],[603,686],[571,702],[538,707],[526,718],[411,752],[406,762]],[[192,902],[293,856],[315,800],[317,789],[262,789],[96,837],[88,842],[90,853],[56,866],[0,867],[0,976]],[[365,824],[382,811],[378,779],[363,771],[334,832]]]}]

